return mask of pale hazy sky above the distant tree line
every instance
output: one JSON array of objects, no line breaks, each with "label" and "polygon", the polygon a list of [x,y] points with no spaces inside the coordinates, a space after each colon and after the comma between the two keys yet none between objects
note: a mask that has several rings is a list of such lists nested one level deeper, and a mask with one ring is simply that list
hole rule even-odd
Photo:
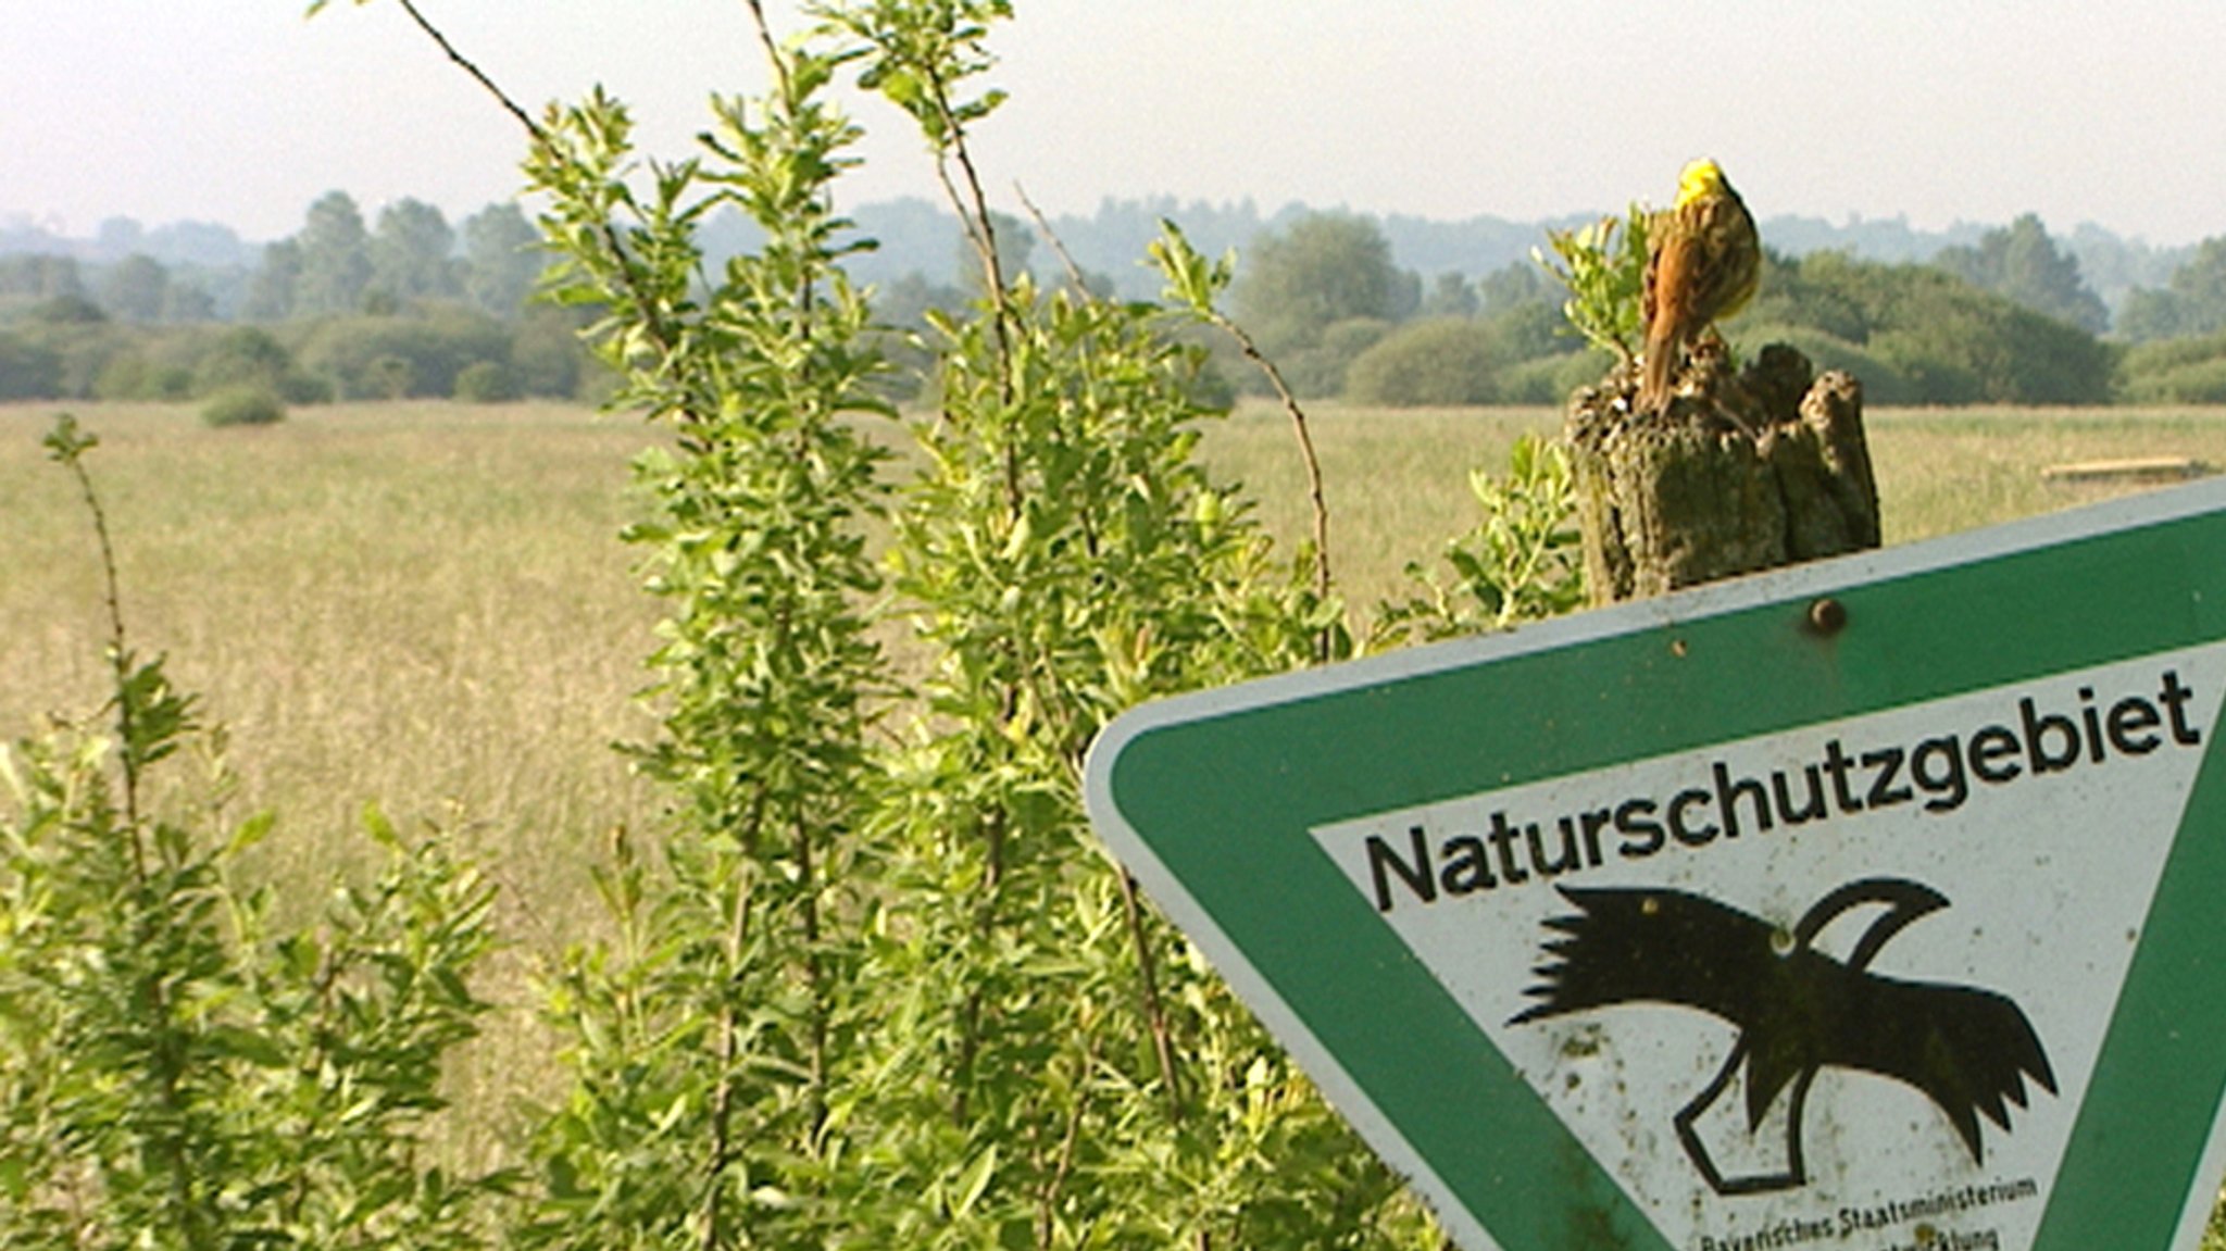
[{"label": "pale hazy sky above the distant tree line", "polygon": [[[0,218],[292,234],[332,187],[452,218],[523,142],[392,0],[0,0]],[[741,0],[421,0],[539,107],[594,82],[679,154],[764,67]],[[1665,203],[1723,160],[1759,216],[1919,227],[2039,211],[2226,234],[2215,0],[1017,0],[979,134],[993,191],[1253,196],[1431,218]],[[792,4],[775,2],[775,13]],[[935,194],[873,100],[853,203]]]}]

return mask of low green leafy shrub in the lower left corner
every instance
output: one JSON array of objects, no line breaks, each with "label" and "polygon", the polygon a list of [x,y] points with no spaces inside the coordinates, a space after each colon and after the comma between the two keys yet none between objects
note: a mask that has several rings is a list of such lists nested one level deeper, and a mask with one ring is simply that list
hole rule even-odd
[{"label": "low green leafy shrub in the lower left corner", "polygon": [[[243,884],[276,819],[223,817],[223,732],[125,639],[93,439],[65,416],[47,447],[100,539],[114,723],[0,748],[0,1242],[490,1244],[508,1178],[423,1158],[443,1064],[487,1011],[470,979],[492,890],[376,810],[378,877],[323,910]],[[205,781],[156,815],[178,755]]]}]

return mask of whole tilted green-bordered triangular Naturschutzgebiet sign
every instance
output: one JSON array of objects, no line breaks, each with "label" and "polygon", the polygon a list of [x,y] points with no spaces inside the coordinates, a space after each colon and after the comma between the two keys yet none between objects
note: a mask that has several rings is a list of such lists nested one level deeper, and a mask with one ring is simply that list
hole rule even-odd
[{"label": "whole tilted green-bordered triangular Naturschutzgebiet sign", "polygon": [[2222,697],[2202,483],[1153,703],[1089,801],[1462,1244],[2195,1247]]}]

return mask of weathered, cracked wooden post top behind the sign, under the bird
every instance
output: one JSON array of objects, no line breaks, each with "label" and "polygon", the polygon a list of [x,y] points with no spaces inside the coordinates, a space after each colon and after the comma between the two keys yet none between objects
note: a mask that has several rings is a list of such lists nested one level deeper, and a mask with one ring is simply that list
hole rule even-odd
[{"label": "weathered, cracked wooden post top behind the sign, under the bird", "polygon": [[1569,401],[1594,605],[1879,545],[1863,387],[1774,343],[1745,370],[1694,349],[1665,412],[1618,367]]}]

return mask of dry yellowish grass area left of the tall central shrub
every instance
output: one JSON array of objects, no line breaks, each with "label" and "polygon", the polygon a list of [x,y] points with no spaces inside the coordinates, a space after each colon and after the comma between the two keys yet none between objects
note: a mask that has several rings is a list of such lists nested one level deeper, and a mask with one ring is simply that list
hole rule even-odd
[{"label": "dry yellowish grass area left of the tall central shrub", "polygon": [[[532,906],[579,839],[632,819],[608,750],[652,605],[634,592],[628,454],[643,430],[552,407],[309,410],[207,430],[189,407],[78,407],[100,436],[134,643],[232,730],[276,868],[327,864],[365,801],[459,824]],[[0,410],[0,735],[102,697],[105,610],[76,483]],[[323,877],[316,873],[314,877]],[[559,888],[559,893],[572,886]],[[523,937],[523,935],[521,935]]]}]

